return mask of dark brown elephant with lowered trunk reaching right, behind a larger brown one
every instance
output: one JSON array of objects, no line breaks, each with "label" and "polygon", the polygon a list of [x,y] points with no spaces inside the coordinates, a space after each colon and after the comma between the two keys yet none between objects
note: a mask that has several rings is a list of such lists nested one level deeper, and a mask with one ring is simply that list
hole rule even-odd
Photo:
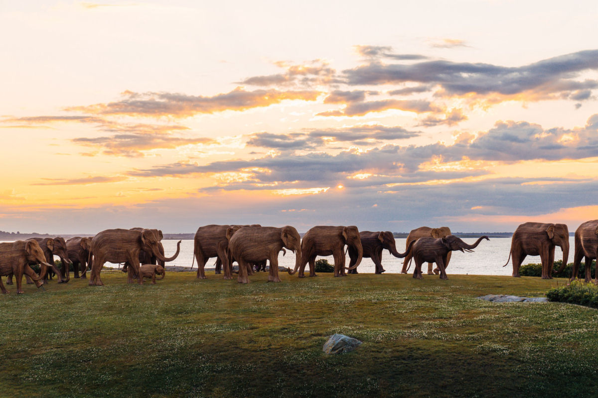
[{"label": "dark brown elephant with lowered trunk reaching right, behind a larger brown one", "polygon": [[[361,238],[361,246],[364,248],[364,258],[371,258],[376,266],[375,273],[381,274],[386,270],[382,268],[382,251],[388,250],[390,254],[396,258],[404,258],[409,252],[410,246],[407,246],[407,250],[404,253],[396,251],[395,237],[390,231],[381,232],[370,232],[370,231],[359,231],[359,237]],[[411,240],[411,244],[415,240]],[[349,268],[353,267],[357,262],[358,252],[349,246]],[[349,274],[356,274],[357,269],[352,269],[347,272]]]}]

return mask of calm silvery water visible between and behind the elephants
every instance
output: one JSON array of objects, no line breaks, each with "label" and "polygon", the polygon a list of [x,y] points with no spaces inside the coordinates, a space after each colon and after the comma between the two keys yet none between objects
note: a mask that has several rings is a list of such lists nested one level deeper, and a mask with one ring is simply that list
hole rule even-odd
[{"label": "calm silvery water visible between and behind the elephants", "polygon": [[[407,239],[396,239],[396,247],[399,252],[405,251],[405,242]],[[463,239],[467,243],[474,243],[474,238]],[[172,256],[176,251],[176,240],[163,240],[164,251],[166,256]],[[511,238],[510,237],[494,237],[490,240],[483,240],[480,245],[475,249],[473,253],[462,253],[459,251],[453,252],[449,268],[447,269],[448,274],[478,274],[478,275],[511,275],[512,263],[509,261],[508,266],[502,267],[509,257],[509,250],[511,249]],[[329,263],[334,263],[332,256],[329,257],[318,257],[326,258]],[[563,258],[563,252],[560,248],[554,250],[554,259],[561,260]],[[181,252],[175,261],[168,263],[169,266],[191,266],[193,260],[193,240],[183,240],[181,242]],[[206,268],[212,268],[215,259],[208,260]],[[523,261],[523,264],[539,263],[539,256],[527,256]],[[573,237],[569,238],[569,263],[573,262]],[[282,252],[278,257],[279,266],[295,267],[295,255],[291,251],[286,251],[286,255],[283,257]],[[400,273],[402,269],[402,258],[396,258],[389,254],[388,251],[384,251],[382,254],[382,266],[387,273]],[[349,264],[349,256],[347,255],[347,265]],[[193,268],[197,269],[197,263],[194,264]],[[370,258],[364,258],[359,264],[357,269],[360,273],[374,273],[374,263]],[[422,271],[426,273],[428,271],[428,264],[422,266]],[[413,261],[411,262],[411,268],[409,272],[413,272]],[[210,271],[209,274],[212,273]],[[425,277],[425,276],[424,276]]]}]

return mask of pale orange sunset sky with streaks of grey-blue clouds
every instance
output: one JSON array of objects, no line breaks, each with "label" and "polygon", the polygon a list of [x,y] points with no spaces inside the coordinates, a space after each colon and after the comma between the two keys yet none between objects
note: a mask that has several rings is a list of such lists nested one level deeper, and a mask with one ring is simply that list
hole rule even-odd
[{"label": "pale orange sunset sky with streaks of grey-blue clouds", "polygon": [[0,1],[0,230],[598,218],[596,1]]}]

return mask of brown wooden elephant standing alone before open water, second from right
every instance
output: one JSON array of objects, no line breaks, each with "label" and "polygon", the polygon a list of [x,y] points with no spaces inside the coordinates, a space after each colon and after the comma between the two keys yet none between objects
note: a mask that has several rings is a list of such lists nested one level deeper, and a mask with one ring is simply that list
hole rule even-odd
[{"label": "brown wooden elephant standing alone before open water, second from right", "polygon": [[509,260],[513,263],[512,276],[520,276],[519,268],[528,255],[539,255],[542,263],[542,279],[551,279],[554,246],[562,249],[563,266],[566,266],[569,258],[569,229],[565,224],[524,223],[518,226],[511,238],[511,251],[507,259],[507,264]]}]

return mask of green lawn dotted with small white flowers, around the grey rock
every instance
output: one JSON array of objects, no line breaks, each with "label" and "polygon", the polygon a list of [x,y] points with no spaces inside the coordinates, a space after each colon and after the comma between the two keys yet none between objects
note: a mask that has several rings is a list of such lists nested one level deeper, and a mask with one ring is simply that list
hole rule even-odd
[{"label": "green lawn dotted with small white flowers, around the grey rock", "polygon": [[[598,311],[543,296],[560,280],[266,273],[239,285],[71,279],[0,298],[2,397],[592,397]],[[362,340],[322,353],[327,337]]]}]

